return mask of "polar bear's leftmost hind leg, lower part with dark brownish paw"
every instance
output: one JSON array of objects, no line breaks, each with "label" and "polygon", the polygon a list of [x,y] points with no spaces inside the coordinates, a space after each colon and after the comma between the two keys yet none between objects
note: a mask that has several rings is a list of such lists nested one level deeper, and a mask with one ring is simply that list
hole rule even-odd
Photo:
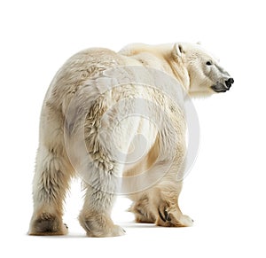
[{"label": "polar bear's leftmost hind leg, lower part with dark brownish paw", "polygon": [[40,146],[34,177],[34,213],[29,235],[65,235],[67,226],[62,221],[63,201],[72,168],[65,157],[53,149]]}]

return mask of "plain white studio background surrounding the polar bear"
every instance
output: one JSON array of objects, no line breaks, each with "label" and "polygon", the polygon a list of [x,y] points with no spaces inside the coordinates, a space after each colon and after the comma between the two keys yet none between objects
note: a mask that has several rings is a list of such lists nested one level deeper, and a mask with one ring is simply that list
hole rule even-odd
[{"label": "plain white studio background surrounding the polar bear", "polygon": [[[1,1],[1,257],[265,257],[265,5],[263,1]],[[195,100],[200,153],[181,207],[192,228],[133,223],[119,198],[120,238],[85,238],[80,183],[66,201],[67,237],[29,237],[43,97],[76,51],[200,41],[235,79]],[[264,245],[264,246],[263,246]],[[16,255],[16,256],[15,256]],[[67,256],[68,257],[68,256]]]}]

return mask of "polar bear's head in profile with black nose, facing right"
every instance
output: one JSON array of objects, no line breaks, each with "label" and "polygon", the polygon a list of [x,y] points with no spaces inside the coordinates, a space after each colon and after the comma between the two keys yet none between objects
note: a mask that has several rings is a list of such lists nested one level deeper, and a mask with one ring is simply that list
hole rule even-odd
[{"label": "polar bear's head in profile with black nose, facing right", "polygon": [[176,62],[183,64],[189,77],[186,89],[189,95],[207,96],[230,90],[233,78],[200,44],[176,43],[173,54]]}]

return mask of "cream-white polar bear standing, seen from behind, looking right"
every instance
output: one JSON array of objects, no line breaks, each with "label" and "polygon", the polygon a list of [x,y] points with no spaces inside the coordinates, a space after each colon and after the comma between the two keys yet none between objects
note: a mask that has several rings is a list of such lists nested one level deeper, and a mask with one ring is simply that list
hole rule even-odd
[{"label": "cream-white polar bear standing, seen from behind, looking right", "polygon": [[28,233],[67,233],[63,202],[75,175],[85,186],[79,221],[90,237],[124,234],[111,219],[118,193],[133,200],[137,222],[191,226],[178,207],[186,152],[182,99],[225,92],[233,82],[193,43],[135,43],[68,59],[43,101]]}]

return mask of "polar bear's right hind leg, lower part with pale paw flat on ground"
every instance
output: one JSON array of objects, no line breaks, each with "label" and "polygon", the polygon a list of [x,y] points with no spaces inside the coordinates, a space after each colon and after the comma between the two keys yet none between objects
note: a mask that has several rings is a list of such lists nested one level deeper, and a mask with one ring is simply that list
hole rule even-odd
[{"label": "polar bear's right hind leg, lower part with pale paw flat on ground", "polygon": [[114,176],[116,174],[113,172],[114,169],[105,171],[102,169],[104,167],[90,167],[88,170],[91,173],[91,181],[86,182],[86,196],[79,216],[79,221],[88,237],[117,237],[125,233],[111,219],[118,177]]}]

